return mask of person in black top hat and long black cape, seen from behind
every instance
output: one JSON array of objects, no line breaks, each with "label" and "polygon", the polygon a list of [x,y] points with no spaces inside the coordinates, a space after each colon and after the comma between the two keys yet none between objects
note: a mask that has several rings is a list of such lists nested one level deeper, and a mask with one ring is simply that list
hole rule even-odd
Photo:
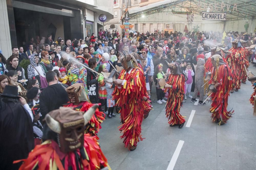
[{"label": "person in black top hat and long black cape, seen from behind", "polygon": [[6,85],[0,94],[0,169],[18,169],[22,163],[13,161],[26,159],[34,148],[33,115],[25,105],[30,110],[26,100],[18,96],[18,87]]}]

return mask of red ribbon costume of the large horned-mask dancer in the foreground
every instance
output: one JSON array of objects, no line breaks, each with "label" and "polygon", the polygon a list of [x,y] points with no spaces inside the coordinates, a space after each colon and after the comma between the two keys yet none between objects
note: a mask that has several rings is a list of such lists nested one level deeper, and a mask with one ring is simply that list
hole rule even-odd
[{"label": "red ribbon costume of the large horned-mask dancer in the foreground", "polygon": [[[58,144],[54,140],[46,140],[41,145],[36,145],[27,159],[14,161],[18,163],[24,161],[19,170],[98,170],[109,167],[107,159],[101,151],[96,137],[84,134],[84,145],[82,148],[70,153],[62,153]],[[109,169],[111,169],[109,167]]]}]

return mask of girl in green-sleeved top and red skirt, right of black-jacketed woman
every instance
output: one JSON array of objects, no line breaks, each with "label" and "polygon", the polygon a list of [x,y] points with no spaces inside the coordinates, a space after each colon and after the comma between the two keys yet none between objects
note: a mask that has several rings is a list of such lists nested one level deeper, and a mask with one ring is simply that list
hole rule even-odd
[{"label": "girl in green-sleeved top and red skirt, right of black-jacketed woman", "polygon": [[[101,64],[99,67],[98,73],[101,73],[101,72],[107,73],[108,70],[106,69],[106,65],[107,65],[106,63]],[[99,99],[100,99],[101,104],[105,106],[104,113],[108,114],[107,91],[106,91],[106,86],[105,86],[105,79],[102,75],[99,75],[98,84],[99,84]]]}]

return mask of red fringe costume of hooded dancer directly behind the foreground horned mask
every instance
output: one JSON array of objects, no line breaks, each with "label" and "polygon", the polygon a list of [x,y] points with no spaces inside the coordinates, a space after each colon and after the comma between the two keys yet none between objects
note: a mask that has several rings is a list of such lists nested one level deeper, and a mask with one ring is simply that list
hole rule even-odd
[{"label": "red fringe costume of hooded dancer directly behind the foreground horned mask", "polygon": [[[93,104],[88,101],[81,101],[78,105],[70,102],[68,102],[66,105],[63,105],[63,107],[72,107],[73,110],[82,112],[86,112],[92,106]],[[97,108],[90,122],[88,122],[88,124],[86,125],[84,133],[88,133],[91,136],[96,136],[96,139],[99,140],[97,134],[101,129],[101,123],[103,122],[103,120],[105,120],[105,114],[103,112],[100,112]]]}]

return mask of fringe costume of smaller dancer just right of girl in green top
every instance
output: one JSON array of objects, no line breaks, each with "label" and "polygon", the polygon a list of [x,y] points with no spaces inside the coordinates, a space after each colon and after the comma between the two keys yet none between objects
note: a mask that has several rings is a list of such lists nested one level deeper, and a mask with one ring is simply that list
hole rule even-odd
[{"label": "fringe costume of smaller dancer just right of girl in green top", "polygon": [[185,122],[183,116],[179,113],[184,98],[184,84],[185,78],[182,74],[170,74],[166,82],[172,85],[172,88],[165,88],[164,92],[168,90],[168,98],[165,106],[166,117],[170,125],[179,125]]}]

